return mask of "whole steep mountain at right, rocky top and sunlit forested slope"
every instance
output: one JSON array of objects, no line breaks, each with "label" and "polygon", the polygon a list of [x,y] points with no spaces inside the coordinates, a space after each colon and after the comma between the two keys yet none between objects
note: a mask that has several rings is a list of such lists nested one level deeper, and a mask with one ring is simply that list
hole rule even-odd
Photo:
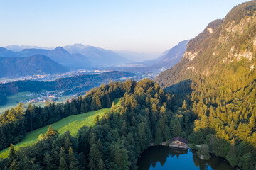
[{"label": "whole steep mountain at right, rocky top and sunlit forested slope", "polygon": [[197,116],[191,140],[207,143],[242,169],[253,169],[256,159],[255,11],[256,1],[235,6],[188,42],[181,62],[155,79],[167,91],[176,83],[191,88],[184,96]]}]

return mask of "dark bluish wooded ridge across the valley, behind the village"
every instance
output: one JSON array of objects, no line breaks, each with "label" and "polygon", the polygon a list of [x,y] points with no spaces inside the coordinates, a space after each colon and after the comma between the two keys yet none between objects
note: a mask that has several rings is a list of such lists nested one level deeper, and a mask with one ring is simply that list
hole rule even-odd
[{"label": "dark bluish wooded ridge across the valley, behind the village", "polygon": [[133,73],[128,72],[105,72],[101,74],[85,74],[73,77],[56,79],[55,81],[14,81],[0,84],[0,105],[6,104],[7,96],[18,92],[30,91],[39,92],[41,90],[55,91],[68,90],[66,94],[75,94],[80,91],[87,91],[100,84],[107,84],[110,80],[117,80],[121,77],[132,77]]}]

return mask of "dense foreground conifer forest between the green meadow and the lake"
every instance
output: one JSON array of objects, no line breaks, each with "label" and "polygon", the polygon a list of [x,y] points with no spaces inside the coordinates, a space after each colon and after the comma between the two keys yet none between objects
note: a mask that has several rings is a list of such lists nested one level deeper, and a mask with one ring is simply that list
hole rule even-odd
[{"label": "dense foreground conifer forest between the green meadow and the lake", "polygon": [[75,137],[68,131],[58,136],[49,128],[32,147],[15,151],[11,145],[9,157],[0,161],[0,169],[137,169],[139,154],[151,142],[159,144],[176,135],[186,137],[191,130],[193,118],[186,111],[186,103],[174,114],[175,97],[165,94],[154,81],[110,86],[120,87],[124,96],[119,106],[113,105],[102,118],[95,118],[95,127],[83,127]]}]

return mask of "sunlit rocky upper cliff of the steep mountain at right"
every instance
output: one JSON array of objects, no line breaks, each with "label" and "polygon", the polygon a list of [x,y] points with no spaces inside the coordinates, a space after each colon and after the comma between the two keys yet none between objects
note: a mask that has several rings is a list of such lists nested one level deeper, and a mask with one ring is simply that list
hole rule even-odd
[{"label": "sunlit rocky upper cliff of the steep mountain at right", "polygon": [[235,6],[223,20],[209,23],[201,34],[188,42],[181,62],[162,72],[156,81],[166,88],[185,79],[214,76],[227,67],[237,67],[237,64],[247,70],[254,69],[255,4],[256,1],[250,1]]}]

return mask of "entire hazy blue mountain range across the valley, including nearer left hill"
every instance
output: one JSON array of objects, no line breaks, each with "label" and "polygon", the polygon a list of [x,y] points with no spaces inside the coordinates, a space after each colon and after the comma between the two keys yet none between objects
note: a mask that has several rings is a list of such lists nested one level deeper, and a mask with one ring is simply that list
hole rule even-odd
[{"label": "entire hazy blue mountain range across the valley, including nearer left hill", "polygon": [[[5,57],[1,59],[1,62],[7,64],[2,69],[6,70],[0,76],[4,77],[16,77],[21,75],[28,74],[39,74],[46,73],[44,69],[35,70],[34,64],[36,61],[31,64],[29,60],[25,60],[24,57],[30,57],[35,55],[43,55],[44,58],[41,57],[40,60],[37,61],[42,63],[49,62],[49,57],[54,62],[58,62],[58,64],[63,65],[63,68],[68,69],[92,69],[92,68],[111,68],[112,70],[126,71],[126,72],[155,72],[160,69],[169,69],[173,67],[176,63],[181,60],[183,53],[186,50],[186,45],[188,44],[188,40],[178,43],[175,47],[171,48],[171,50],[167,50],[164,52],[159,58],[156,60],[146,60],[143,62],[134,63],[132,60],[127,59],[122,56],[131,56],[134,53],[131,52],[120,52],[119,55],[117,52],[113,52],[112,50],[105,50],[100,47],[92,47],[82,44],[74,44],[67,45],[65,47],[56,47],[53,50],[43,49],[43,47],[37,46],[18,46],[18,45],[9,45],[4,47],[0,47],[0,57]],[[26,48],[28,47],[28,48]],[[32,48],[31,48],[32,47]],[[23,49],[26,48],[26,49]],[[14,51],[12,51],[14,50]],[[138,54],[135,54],[138,56]],[[6,57],[23,57],[21,59],[7,59]],[[47,59],[47,60],[46,60]],[[45,61],[46,60],[46,61]],[[29,67],[25,69],[24,72],[18,72],[20,68],[23,68],[24,62]],[[52,61],[52,62],[53,62]],[[129,64],[132,63],[132,64]],[[17,68],[11,67],[11,64],[14,64]],[[21,64],[20,66],[18,64]],[[56,64],[56,63],[55,63]],[[40,65],[40,63],[38,63]],[[54,65],[54,64],[52,64]],[[117,67],[119,65],[119,67]],[[43,65],[40,65],[42,68]],[[122,67],[121,67],[122,66]],[[50,67],[50,66],[49,66]],[[60,66],[59,66],[60,67]],[[68,69],[62,69],[61,72],[66,72]],[[31,73],[28,71],[31,70]],[[58,69],[57,69],[58,70]],[[65,70],[65,71],[64,71]],[[53,68],[49,68],[49,73],[55,72]]]}]

